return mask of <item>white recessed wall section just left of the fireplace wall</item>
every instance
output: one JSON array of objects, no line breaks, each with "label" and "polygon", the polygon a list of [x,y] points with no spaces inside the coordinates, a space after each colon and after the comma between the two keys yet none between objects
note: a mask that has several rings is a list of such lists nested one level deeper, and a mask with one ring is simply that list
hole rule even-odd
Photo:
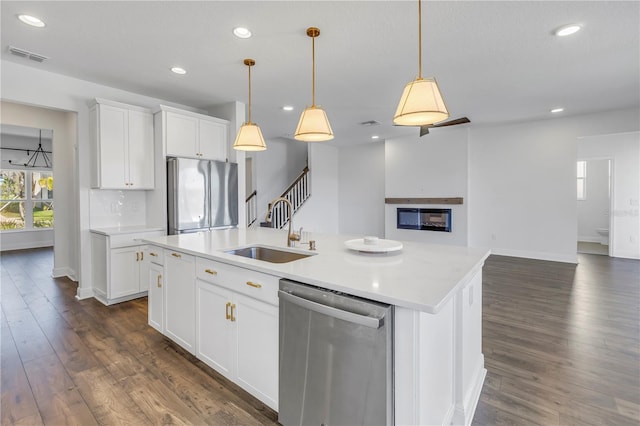
[{"label": "white recessed wall section just left of the fireplace wall", "polygon": [[338,150],[341,234],[384,238],[384,142]]}]

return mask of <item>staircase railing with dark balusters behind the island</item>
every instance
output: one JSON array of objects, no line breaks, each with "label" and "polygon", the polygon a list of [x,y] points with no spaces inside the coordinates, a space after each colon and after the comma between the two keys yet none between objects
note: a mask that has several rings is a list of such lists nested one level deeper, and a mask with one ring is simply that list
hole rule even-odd
[{"label": "staircase railing with dark balusters behind the island", "polygon": [[[302,170],[302,173],[293,181],[289,187],[284,190],[282,195],[291,203],[293,207],[292,215],[295,215],[298,209],[311,196],[311,183],[309,182],[309,167]],[[256,205],[252,205],[256,204]],[[271,207],[271,206],[269,206]],[[250,215],[250,213],[252,215]],[[247,224],[251,226],[257,217],[257,196],[255,191],[247,198]],[[260,226],[273,227],[277,229],[283,228],[289,222],[289,209],[285,203],[278,203],[271,213],[271,223],[263,222]]]}]

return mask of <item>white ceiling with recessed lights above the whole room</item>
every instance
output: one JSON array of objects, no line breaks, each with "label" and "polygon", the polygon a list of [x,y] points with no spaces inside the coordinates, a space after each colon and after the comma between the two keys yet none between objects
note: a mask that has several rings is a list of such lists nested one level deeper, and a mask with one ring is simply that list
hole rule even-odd
[{"label": "white ceiling with recessed lights above the whole room", "polygon": [[[417,76],[416,1],[5,1],[2,59],[203,110],[247,100],[265,138],[291,138],[316,103],[338,146],[417,134],[394,127]],[[21,23],[25,13],[44,28]],[[573,36],[554,29],[583,26]],[[232,29],[248,27],[250,39]],[[522,122],[640,106],[640,2],[424,1],[423,75],[438,79],[451,118]],[[8,46],[49,57],[37,63]],[[170,72],[181,66],[186,75]],[[282,110],[293,105],[292,112]],[[380,125],[359,123],[374,120]],[[434,132],[446,132],[446,128]],[[425,138],[428,136],[425,136]]]}]

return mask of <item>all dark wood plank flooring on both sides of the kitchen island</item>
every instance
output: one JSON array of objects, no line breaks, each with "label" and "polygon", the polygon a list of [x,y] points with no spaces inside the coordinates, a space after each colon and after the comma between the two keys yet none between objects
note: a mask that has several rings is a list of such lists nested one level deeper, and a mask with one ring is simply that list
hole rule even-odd
[{"label": "all dark wood plank flooring on both sides of the kitchen island", "polygon": [[[640,262],[492,256],[474,424],[640,424]],[[274,424],[146,325],[146,300],[76,301],[51,250],[2,253],[2,425]]]}]

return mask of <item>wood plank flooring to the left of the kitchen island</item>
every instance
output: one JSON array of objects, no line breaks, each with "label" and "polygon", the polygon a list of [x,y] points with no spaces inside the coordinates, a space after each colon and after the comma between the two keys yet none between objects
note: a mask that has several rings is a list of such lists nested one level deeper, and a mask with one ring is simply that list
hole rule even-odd
[{"label": "wood plank flooring to the left of the kitchen island", "polygon": [[51,249],[4,252],[1,424],[270,425],[276,413],[147,326],[147,302],[75,300]]}]

